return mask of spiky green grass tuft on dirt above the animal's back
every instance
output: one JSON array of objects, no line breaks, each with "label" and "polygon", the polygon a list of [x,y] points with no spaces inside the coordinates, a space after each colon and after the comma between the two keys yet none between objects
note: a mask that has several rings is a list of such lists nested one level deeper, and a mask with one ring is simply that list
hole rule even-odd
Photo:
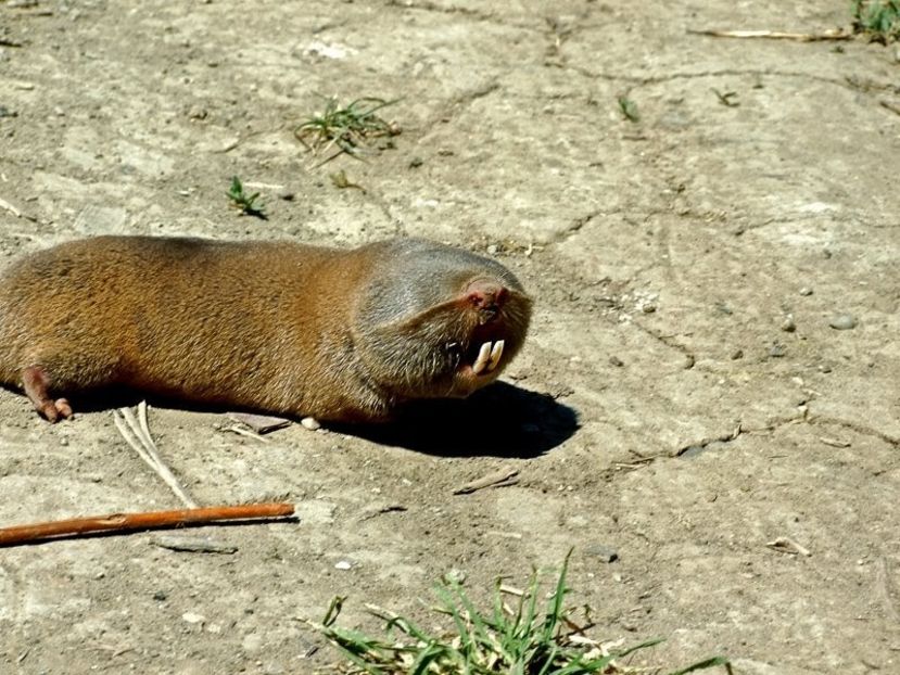
[{"label": "spiky green grass tuft on dirt above the animal's back", "polygon": [[362,149],[371,139],[397,136],[400,127],[385,122],[378,113],[400,101],[385,101],[375,97],[356,99],[347,105],[339,105],[335,98],[327,100],[325,110],[294,128],[294,137],[312,153],[327,153],[338,149],[329,160],[346,153],[359,158]]}]

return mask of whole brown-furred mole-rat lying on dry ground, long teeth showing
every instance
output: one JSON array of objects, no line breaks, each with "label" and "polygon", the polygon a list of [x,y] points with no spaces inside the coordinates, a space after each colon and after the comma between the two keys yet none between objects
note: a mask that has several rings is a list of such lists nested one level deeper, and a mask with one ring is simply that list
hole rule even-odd
[{"label": "whole brown-furred mole-rat lying on dry ground, long teeth showing", "polygon": [[0,383],[51,422],[72,416],[68,397],[113,385],[383,421],[496,380],[530,316],[505,267],[422,240],[341,251],[98,237],[0,277]]}]

